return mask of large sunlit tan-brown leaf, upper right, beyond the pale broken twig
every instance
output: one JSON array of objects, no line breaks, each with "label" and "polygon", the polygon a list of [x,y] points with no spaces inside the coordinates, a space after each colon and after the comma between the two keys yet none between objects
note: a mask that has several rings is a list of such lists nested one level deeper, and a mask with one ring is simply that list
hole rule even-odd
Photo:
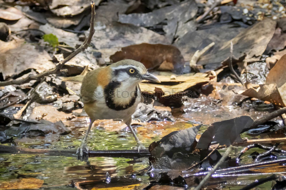
[{"label": "large sunlit tan-brown leaf, upper right, beyond the pale broken twig", "polygon": [[[259,60],[261,54],[265,51],[269,41],[274,35],[276,21],[265,19],[241,31],[233,39],[216,43],[206,54],[200,57],[197,64],[209,65],[207,68],[214,70],[220,67],[220,63],[224,63],[230,53],[230,42],[233,42],[233,56],[235,58],[243,58],[245,61]],[[214,64],[214,66],[211,66]],[[206,68],[206,67],[205,67]]]}]

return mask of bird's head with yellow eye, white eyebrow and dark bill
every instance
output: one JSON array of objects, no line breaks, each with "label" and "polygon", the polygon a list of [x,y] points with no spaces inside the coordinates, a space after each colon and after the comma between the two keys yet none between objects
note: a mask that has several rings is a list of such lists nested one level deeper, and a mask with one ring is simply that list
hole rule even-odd
[{"label": "bird's head with yellow eye, white eyebrow and dark bill", "polygon": [[146,67],[131,59],[125,59],[110,65],[112,79],[117,82],[128,82],[134,84],[147,80],[150,82],[160,82],[160,80],[150,74]]}]

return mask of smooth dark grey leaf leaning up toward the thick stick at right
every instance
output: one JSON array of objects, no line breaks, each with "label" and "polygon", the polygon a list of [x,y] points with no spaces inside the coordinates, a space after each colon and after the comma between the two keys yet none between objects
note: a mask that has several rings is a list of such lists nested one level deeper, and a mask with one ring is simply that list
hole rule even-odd
[{"label": "smooth dark grey leaf leaning up toward the thick stick at right", "polygon": [[240,133],[253,124],[250,116],[240,116],[229,120],[212,123],[202,133],[196,148],[206,149],[211,142],[217,142],[220,145],[231,145],[236,140],[242,141]]}]

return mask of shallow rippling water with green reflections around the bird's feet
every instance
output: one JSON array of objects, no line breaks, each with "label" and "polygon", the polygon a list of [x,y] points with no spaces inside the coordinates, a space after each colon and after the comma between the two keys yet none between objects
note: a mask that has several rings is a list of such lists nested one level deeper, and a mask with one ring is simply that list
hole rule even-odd
[{"label": "shallow rippling water with green reflections around the bird's feet", "polygon": [[[70,133],[61,136],[58,141],[45,143],[45,140],[35,139],[30,142],[18,140],[17,146],[29,147],[37,149],[76,149],[80,145],[84,130],[88,126],[87,118],[74,119],[66,121],[66,125],[79,131],[83,131],[81,135]],[[136,146],[136,142],[127,128],[120,126],[114,128],[117,122],[103,122],[95,124],[91,130],[88,146],[94,150],[124,150],[132,149]],[[113,128],[110,128],[112,126]],[[156,140],[160,140],[162,136],[176,130],[182,130],[192,127],[192,123],[178,120],[177,122],[153,122],[145,126],[138,126],[138,138],[142,140],[144,145],[148,145]],[[199,134],[206,129],[202,126]],[[10,145],[10,144],[4,144]],[[239,147],[240,151],[242,147]],[[219,150],[224,153],[225,150]],[[251,149],[242,156],[241,163],[251,163],[252,158],[248,156],[251,152],[263,152],[260,149]],[[235,151],[231,154],[235,156]],[[44,180],[41,189],[72,189],[68,184],[80,181],[97,181],[100,183],[106,178],[106,172],[113,176],[124,176],[134,173],[140,169],[144,169],[148,164],[147,158],[141,158],[136,161],[129,158],[112,158],[112,157],[90,157],[88,163],[78,161],[76,157],[68,157],[62,155],[44,155],[44,154],[1,154],[0,155],[0,182],[10,181],[19,178],[37,178]],[[239,189],[255,179],[269,175],[259,176],[241,176],[234,181],[229,180],[227,185],[222,189]],[[149,176],[137,176],[136,184],[147,185]],[[271,182],[272,183],[272,182]],[[134,183],[131,183],[134,184]],[[124,186],[118,182],[118,187]],[[172,187],[170,187],[172,189]],[[269,189],[269,183],[262,185],[259,189]]]}]

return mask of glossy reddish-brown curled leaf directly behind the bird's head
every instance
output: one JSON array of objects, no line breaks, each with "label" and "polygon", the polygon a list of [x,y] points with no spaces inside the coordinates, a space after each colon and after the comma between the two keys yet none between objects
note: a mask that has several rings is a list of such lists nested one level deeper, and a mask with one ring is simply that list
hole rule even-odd
[{"label": "glossy reddish-brown curled leaf directly behind the bird's head", "polygon": [[133,59],[142,62],[147,69],[158,68],[162,63],[169,66],[173,72],[180,73],[184,68],[184,58],[180,50],[172,45],[138,44],[121,48],[121,51],[110,56],[112,62],[123,59]]}]

